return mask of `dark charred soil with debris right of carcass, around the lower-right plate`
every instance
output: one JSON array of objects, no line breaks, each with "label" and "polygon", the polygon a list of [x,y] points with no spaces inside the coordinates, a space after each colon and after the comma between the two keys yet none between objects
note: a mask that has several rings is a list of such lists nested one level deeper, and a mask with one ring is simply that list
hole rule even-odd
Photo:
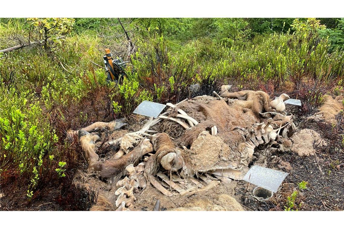
[{"label": "dark charred soil with debris right of carcass, around the lower-right plate", "polygon": [[[301,118],[301,117],[300,117]],[[254,185],[239,181],[235,195],[247,210],[284,210],[287,197],[299,191],[301,181],[308,182],[307,189],[299,191],[295,203],[298,210],[344,210],[344,132],[343,114],[337,115],[337,124],[300,122],[301,128],[314,129],[327,141],[328,145],[316,149],[316,155],[300,157],[293,152],[273,152],[267,158],[267,167],[288,172],[289,175],[280,190],[266,202],[252,197]],[[341,135],[340,135],[341,134]],[[255,153],[256,154],[256,153]],[[280,162],[289,162],[291,170],[279,168]],[[247,191],[246,191],[247,190]]]}]

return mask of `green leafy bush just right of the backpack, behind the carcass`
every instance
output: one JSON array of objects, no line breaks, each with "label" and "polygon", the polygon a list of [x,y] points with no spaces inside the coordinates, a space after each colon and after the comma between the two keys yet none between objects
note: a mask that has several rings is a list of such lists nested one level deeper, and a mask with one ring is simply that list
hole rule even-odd
[{"label": "green leafy bush just right of the backpack, behind the carcass", "polygon": [[187,87],[196,80],[194,57],[178,52],[173,54],[163,36],[140,41],[131,57],[134,75],[158,101],[178,101],[187,96]]}]

